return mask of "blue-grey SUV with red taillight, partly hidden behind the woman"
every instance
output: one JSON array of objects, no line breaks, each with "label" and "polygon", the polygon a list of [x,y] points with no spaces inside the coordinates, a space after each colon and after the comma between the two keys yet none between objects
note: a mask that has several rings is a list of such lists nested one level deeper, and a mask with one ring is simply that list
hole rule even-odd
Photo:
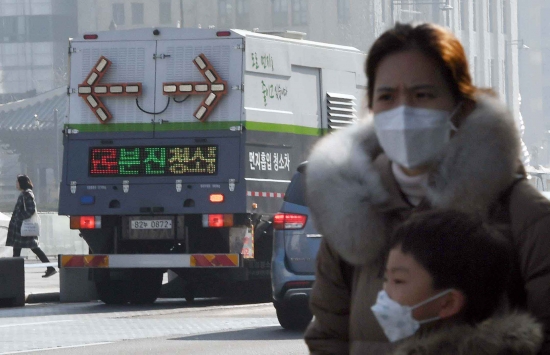
[{"label": "blue-grey SUV with red taillight, partly hidden behind the woman", "polygon": [[281,326],[294,330],[304,329],[312,319],[308,302],[321,244],[321,235],[309,218],[305,202],[306,165],[304,162],[298,167],[281,210],[273,217],[273,305]]}]

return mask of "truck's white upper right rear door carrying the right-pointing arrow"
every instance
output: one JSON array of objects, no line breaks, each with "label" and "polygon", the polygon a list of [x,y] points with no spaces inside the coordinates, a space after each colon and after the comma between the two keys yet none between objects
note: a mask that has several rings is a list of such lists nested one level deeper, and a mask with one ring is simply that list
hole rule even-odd
[{"label": "truck's white upper right rear door carrying the right-pointing arrow", "polygon": [[[232,87],[242,85],[242,44],[242,39],[226,38],[158,41],[155,101],[157,107],[167,107],[156,115],[157,122],[162,122],[155,125],[157,137],[166,136],[159,132],[229,129],[240,125],[242,92]],[[202,62],[196,62],[199,55],[207,67],[201,68],[198,63]],[[221,83],[226,85],[224,90]],[[195,113],[201,106],[215,107],[199,121]],[[192,125],[178,125],[182,122]],[[163,126],[165,123],[168,125]]]}]

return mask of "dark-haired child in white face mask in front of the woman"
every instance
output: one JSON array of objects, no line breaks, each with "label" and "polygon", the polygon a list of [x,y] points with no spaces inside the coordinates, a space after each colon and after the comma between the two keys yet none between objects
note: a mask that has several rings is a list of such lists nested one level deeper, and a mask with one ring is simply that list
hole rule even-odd
[{"label": "dark-haired child in white face mask in front of the woman", "polygon": [[371,308],[392,354],[537,354],[542,327],[499,307],[510,255],[506,240],[469,214],[435,210],[398,226]]}]

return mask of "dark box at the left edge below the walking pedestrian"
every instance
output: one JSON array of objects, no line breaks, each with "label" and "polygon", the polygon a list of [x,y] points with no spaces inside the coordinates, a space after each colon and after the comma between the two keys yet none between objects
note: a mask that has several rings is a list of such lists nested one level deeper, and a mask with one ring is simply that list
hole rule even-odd
[{"label": "dark box at the left edge below the walking pedestrian", "polygon": [[21,257],[0,258],[0,307],[25,305],[25,263]]}]

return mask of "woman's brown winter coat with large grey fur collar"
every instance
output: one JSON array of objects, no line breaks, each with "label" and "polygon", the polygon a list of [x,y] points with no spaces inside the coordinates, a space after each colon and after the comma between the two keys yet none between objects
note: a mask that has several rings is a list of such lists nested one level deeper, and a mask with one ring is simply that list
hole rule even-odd
[{"label": "woman's brown winter coat with large grey fur collar", "polygon": [[510,301],[545,325],[544,349],[550,351],[550,201],[518,175],[520,140],[507,109],[487,96],[476,99],[430,171],[427,196],[416,208],[400,191],[371,122],[314,147],[306,192],[324,238],[310,297],[315,317],[305,335],[312,353],[387,348],[370,310],[382,288],[386,243],[397,224],[428,208],[477,211],[505,233],[517,251]]}]

